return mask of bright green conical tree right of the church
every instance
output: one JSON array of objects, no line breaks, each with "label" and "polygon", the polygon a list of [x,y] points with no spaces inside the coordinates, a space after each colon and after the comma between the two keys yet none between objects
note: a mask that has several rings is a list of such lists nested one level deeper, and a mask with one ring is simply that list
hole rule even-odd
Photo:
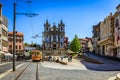
[{"label": "bright green conical tree right of the church", "polygon": [[80,41],[79,41],[77,35],[75,35],[74,39],[72,40],[72,42],[70,44],[70,50],[77,52],[80,49],[81,49]]}]

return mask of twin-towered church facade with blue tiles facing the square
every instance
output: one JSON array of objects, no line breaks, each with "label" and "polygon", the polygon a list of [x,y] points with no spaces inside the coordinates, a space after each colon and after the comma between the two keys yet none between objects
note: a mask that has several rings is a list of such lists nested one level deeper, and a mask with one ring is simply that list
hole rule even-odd
[{"label": "twin-towered church facade with blue tiles facing the square", "polygon": [[65,25],[62,20],[56,26],[51,26],[46,20],[44,24],[43,50],[62,50],[65,49]]}]

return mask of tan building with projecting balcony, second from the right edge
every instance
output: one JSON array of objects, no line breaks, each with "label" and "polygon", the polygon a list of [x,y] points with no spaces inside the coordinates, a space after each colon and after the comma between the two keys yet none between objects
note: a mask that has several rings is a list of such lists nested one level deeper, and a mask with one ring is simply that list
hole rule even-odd
[{"label": "tan building with projecting balcony, second from the right edge", "polygon": [[100,23],[100,41],[101,55],[113,56],[113,18],[112,13]]}]

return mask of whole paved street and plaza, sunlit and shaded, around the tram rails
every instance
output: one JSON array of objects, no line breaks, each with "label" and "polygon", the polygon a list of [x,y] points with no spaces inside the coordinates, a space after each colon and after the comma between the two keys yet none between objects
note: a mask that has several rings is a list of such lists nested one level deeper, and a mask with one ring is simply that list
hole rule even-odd
[{"label": "whole paved street and plaza, sunlit and shaded, around the tram rails", "polygon": [[[80,62],[79,59],[73,59],[68,65],[47,61],[38,62],[38,79],[36,79],[37,62],[23,62],[23,65],[18,67],[15,72],[7,72],[3,77],[0,77],[0,80],[15,80],[29,63],[30,65],[20,75],[18,80],[107,80],[120,73],[120,71],[117,70],[117,68],[120,68],[119,62],[103,59],[94,55],[90,57],[102,61],[104,64]],[[115,66],[117,66],[117,68]],[[103,69],[101,67],[103,67]],[[107,68],[109,68],[109,70],[106,70]]]}]

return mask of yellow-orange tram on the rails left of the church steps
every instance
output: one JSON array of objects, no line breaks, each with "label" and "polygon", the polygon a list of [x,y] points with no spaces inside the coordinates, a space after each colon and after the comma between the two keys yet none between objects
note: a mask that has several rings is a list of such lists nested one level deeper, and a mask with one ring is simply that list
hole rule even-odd
[{"label": "yellow-orange tram on the rails left of the church steps", "polygon": [[40,61],[42,60],[42,51],[33,50],[32,51],[32,61]]}]

